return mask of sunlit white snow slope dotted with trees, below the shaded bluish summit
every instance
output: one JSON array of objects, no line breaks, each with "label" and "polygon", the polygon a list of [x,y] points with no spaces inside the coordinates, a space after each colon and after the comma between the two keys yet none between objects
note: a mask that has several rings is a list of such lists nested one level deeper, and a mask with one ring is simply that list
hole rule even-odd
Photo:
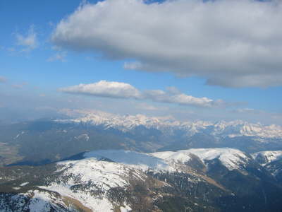
[{"label": "sunlit white snow slope dotted with trees, below the shaded bluish summit", "polygon": [[[89,155],[90,153],[83,160],[58,163],[57,172],[61,172],[59,177],[55,182],[40,188],[77,199],[92,211],[113,211],[115,205],[107,198],[110,189],[129,187],[130,181],[143,181],[147,178],[140,170],[121,163],[96,160]],[[130,209],[125,202],[122,207],[124,211]]]}]

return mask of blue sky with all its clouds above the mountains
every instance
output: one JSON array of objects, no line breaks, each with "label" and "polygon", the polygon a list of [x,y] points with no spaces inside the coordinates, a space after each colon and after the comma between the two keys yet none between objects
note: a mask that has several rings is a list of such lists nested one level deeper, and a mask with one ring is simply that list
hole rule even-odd
[{"label": "blue sky with all its clouds above the mountains", "polygon": [[0,1],[0,120],[69,111],[282,124],[282,3]]}]

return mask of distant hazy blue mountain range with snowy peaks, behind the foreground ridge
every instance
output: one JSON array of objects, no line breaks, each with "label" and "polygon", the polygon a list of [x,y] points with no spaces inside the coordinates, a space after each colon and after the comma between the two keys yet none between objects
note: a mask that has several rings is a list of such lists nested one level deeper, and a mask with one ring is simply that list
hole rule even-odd
[{"label": "distant hazy blue mountain range with snowy peaks, behind the foreground ridge", "polygon": [[[179,122],[169,117],[94,112],[1,126],[0,165],[39,165],[82,151],[178,151],[237,148],[247,153],[282,149],[282,127],[243,121]],[[67,148],[66,148],[67,147]]]}]

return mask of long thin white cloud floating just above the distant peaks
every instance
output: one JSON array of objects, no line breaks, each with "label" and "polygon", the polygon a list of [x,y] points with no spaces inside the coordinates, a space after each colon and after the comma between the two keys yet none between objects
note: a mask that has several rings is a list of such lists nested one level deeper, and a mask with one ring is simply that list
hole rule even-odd
[{"label": "long thin white cloud floating just above the distant peaks", "polygon": [[[152,100],[153,102],[174,103],[178,105],[190,105],[195,107],[226,107],[228,104],[223,100],[209,98],[195,98],[191,95],[180,93],[177,88],[164,90],[145,90],[141,92],[128,83],[99,81],[91,84],[79,84],[68,88],[61,88],[64,93],[93,95],[108,98],[126,98],[136,100]],[[176,93],[176,91],[178,91]]]}]

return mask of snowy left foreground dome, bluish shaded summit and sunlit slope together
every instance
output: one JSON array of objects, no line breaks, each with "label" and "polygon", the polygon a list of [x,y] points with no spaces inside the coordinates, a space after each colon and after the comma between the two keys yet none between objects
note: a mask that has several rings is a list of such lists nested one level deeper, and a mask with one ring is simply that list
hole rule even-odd
[{"label": "snowy left foreground dome, bluish shaded summit and sunlit slope together", "polygon": [[[153,171],[166,175],[166,172],[176,172],[176,167],[179,166],[173,166],[166,160],[155,157],[154,154],[109,150],[87,152],[80,160],[61,161],[56,163],[56,167],[57,170],[54,172],[56,177],[47,180],[45,185],[37,185],[39,189],[57,192],[61,199],[67,196],[79,201],[92,211],[104,212],[113,211],[117,206],[123,208],[123,211],[130,210],[130,205],[126,203],[125,199],[119,202],[109,199],[109,194],[113,189],[126,190],[132,182],[145,182],[148,178],[146,172]],[[205,181],[204,178],[199,178],[197,175],[191,175],[189,179],[190,183]],[[21,184],[27,185],[26,182]],[[165,186],[166,182],[161,184]],[[30,195],[30,192],[35,193],[33,190],[25,195]],[[48,209],[52,206],[52,197],[48,192],[46,194],[37,192],[37,194],[44,198],[30,200],[37,203],[35,206],[30,205],[31,210],[40,207]]]}]

